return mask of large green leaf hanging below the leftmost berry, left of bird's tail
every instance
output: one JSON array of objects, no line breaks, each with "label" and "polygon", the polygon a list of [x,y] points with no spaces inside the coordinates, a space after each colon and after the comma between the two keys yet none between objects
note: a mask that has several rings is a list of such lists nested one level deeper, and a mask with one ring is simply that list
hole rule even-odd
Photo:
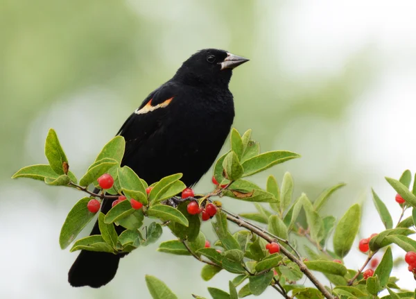
[{"label": "large green leaf hanging below the leftmost berry, left of bird's tail", "polygon": [[91,200],[89,197],[84,197],[78,200],[65,219],[64,225],[62,225],[59,244],[60,248],[65,249],[71,244],[71,242],[78,236],[81,230],[85,228],[85,225],[91,221],[95,214],[89,212],[87,203]]}]

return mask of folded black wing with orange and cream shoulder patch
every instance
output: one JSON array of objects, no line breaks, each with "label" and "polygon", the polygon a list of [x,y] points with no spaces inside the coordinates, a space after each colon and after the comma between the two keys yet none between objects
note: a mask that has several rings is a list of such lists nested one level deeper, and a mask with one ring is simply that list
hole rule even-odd
[{"label": "folded black wing with orange and cream shoulder patch", "polygon": [[124,137],[125,153],[123,163],[129,160],[146,141],[157,135],[168,121],[169,105],[175,101],[177,88],[172,83],[166,83],[148,95],[140,107],[123,123],[119,133]]}]

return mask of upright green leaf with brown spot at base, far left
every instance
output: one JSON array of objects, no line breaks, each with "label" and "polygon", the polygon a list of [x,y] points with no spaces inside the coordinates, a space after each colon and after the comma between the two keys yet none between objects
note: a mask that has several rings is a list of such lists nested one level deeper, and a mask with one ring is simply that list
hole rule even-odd
[{"label": "upright green leaf with brown spot at base, far left", "polygon": [[67,174],[64,171],[64,162],[68,164],[68,159],[60,145],[58,135],[56,135],[53,129],[49,129],[48,136],[46,137],[45,155],[55,173],[59,175]]}]

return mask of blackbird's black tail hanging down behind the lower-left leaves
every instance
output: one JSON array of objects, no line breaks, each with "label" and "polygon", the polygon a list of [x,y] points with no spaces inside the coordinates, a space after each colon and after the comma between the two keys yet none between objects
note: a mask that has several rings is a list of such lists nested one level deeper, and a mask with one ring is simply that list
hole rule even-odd
[{"label": "blackbird's black tail hanging down behind the lower-left leaves", "polygon": [[[109,199],[103,200],[101,212],[106,214],[111,209],[112,201]],[[121,227],[116,227],[118,234],[121,234],[123,230]],[[90,235],[92,234],[100,234],[98,221]],[[80,255],[69,269],[68,282],[72,287],[102,287],[116,275],[121,257],[123,255],[81,250]]]}]

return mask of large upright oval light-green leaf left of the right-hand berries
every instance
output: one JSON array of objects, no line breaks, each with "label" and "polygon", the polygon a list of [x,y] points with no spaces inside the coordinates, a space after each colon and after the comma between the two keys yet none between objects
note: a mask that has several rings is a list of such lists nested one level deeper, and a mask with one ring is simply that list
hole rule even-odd
[{"label": "large upright oval light-green leaf left of the right-hand berries", "polygon": [[347,210],[336,225],[333,235],[333,250],[339,257],[345,257],[351,249],[360,226],[360,219],[361,208],[360,205],[355,204]]}]

